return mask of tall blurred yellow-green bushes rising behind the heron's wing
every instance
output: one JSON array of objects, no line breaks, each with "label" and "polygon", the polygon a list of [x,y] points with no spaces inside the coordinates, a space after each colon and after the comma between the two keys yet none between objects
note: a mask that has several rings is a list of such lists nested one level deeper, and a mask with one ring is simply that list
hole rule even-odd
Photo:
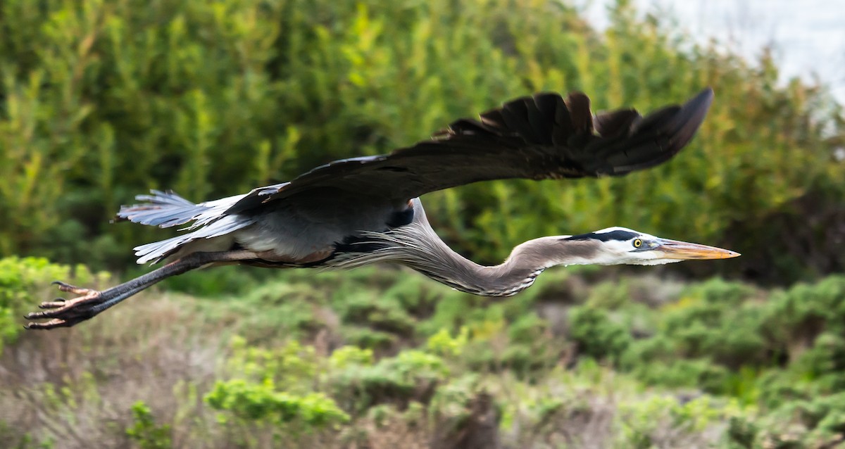
[{"label": "tall blurred yellow-green bushes rising behind the heron's wing", "polygon": [[429,217],[486,262],[530,237],[629,225],[730,243],[770,280],[841,269],[824,241],[837,229],[825,224],[842,222],[834,206],[845,193],[845,167],[830,163],[841,108],[825,89],[780,87],[770,54],[751,64],[695,46],[654,16],[636,19],[629,2],[610,17],[599,34],[577,9],[547,1],[8,0],[0,254],[126,262],[121,248],[161,231],[104,226],[150,187],[196,201],[245,192],[406,146],[537,90],[581,89],[597,110],[648,111],[709,84],[707,122],[671,165],[438,192]]}]

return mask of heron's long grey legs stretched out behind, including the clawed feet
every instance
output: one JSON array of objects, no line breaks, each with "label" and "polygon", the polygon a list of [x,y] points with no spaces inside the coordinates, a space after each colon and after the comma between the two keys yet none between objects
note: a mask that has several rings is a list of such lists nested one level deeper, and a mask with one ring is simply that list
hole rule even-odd
[{"label": "heron's long grey legs stretched out behind, including the clawed feet", "polygon": [[57,281],[53,284],[58,284],[58,289],[81,296],[72,300],[63,300],[59,298],[57,300],[42,302],[41,308],[47,310],[32,312],[28,314],[26,318],[30,320],[49,318],[49,321],[30,322],[26,325],[26,328],[52,329],[54,327],[71,327],[79,322],[83,322],[93,316],[96,316],[101,311],[105,311],[109,307],[116,305],[117,303],[135,295],[147,287],[150,287],[150,285],[160,282],[163,279],[176,276],[177,274],[186,273],[195,268],[200,268],[213,263],[237,262],[254,258],[257,258],[254,252],[243,250],[226,252],[193,252],[185,257],[166,264],[164,267],[158,268],[150,273],[146,273],[138,278],[129,280],[123,284],[116,285],[111,289],[103,291],[79,288],[74,285]]}]

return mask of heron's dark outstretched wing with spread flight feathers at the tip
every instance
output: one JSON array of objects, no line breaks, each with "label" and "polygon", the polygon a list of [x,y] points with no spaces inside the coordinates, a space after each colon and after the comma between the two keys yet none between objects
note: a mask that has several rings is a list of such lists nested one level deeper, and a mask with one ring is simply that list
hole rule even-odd
[{"label": "heron's dark outstretched wing with spread flight feathers at the tip", "polygon": [[643,117],[633,109],[592,116],[590,99],[581,93],[520,98],[479,120],[454,122],[412,147],[336,160],[293,181],[255,189],[226,214],[315,190],[399,201],[476,181],[624,175],[677,154],[712,99],[712,90],[704,89],[684,105]]}]

